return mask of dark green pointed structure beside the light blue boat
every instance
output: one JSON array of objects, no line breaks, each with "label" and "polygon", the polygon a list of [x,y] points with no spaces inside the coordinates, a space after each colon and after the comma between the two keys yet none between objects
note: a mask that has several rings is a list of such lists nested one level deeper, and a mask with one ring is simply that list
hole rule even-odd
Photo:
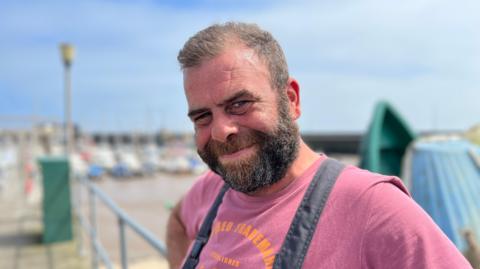
[{"label": "dark green pointed structure beside the light blue boat", "polygon": [[415,134],[392,105],[377,103],[360,147],[360,167],[385,175],[400,176],[402,158]]}]

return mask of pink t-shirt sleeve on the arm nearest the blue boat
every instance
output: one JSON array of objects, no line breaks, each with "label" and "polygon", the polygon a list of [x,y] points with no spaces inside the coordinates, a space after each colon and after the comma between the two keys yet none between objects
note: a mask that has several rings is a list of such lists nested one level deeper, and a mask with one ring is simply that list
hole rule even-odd
[{"label": "pink t-shirt sleeve on the arm nearest the blue boat", "polygon": [[371,189],[363,268],[471,268],[430,216],[397,186]]}]

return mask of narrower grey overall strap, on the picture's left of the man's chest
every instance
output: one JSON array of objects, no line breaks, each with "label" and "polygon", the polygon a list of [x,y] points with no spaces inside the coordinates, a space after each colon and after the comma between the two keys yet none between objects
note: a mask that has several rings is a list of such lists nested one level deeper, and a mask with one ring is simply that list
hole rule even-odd
[{"label": "narrower grey overall strap, on the picture's left of the man's chest", "polygon": [[195,238],[192,250],[190,251],[190,254],[188,254],[187,260],[183,264],[183,269],[193,269],[197,266],[198,259],[200,258],[200,252],[208,242],[208,238],[210,237],[210,233],[212,232],[213,220],[217,216],[218,207],[222,203],[223,196],[225,195],[225,192],[228,190],[228,188],[229,187],[227,184],[223,184],[223,187],[218,193],[215,202],[213,202],[212,207],[210,207],[210,210],[208,211],[208,214],[202,223],[202,227],[200,227],[200,231]]}]

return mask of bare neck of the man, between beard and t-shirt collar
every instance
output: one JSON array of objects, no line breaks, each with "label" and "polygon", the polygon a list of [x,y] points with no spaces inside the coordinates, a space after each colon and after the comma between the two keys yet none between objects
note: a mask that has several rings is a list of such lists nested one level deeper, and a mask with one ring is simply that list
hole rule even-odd
[{"label": "bare neck of the man, between beard and t-shirt collar", "polygon": [[255,192],[249,193],[250,196],[265,196],[283,190],[297,179],[308,167],[310,167],[318,159],[318,154],[315,153],[302,139],[298,149],[298,156],[288,168],[285,176],[277,183],[264,187]]}]

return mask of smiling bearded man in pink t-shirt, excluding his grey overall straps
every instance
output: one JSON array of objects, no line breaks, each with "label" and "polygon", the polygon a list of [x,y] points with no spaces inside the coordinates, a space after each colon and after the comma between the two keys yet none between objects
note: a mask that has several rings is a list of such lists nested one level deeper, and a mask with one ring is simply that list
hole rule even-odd
[{"label": "smiling bearded man in pink t-shirt, excluding his grey overall straps", "polygon": [[[173,209],[170,265],[182,265],[226,183],[230,189],[197,268],[272,268],[305,190],[327,159],[300,138],[300,86],[277,41],[256,25],[210,26],[187,41],[178,60],[195,143],[211,171]],[[347,166],[302,268],[470,267],[397,178]]]}]

